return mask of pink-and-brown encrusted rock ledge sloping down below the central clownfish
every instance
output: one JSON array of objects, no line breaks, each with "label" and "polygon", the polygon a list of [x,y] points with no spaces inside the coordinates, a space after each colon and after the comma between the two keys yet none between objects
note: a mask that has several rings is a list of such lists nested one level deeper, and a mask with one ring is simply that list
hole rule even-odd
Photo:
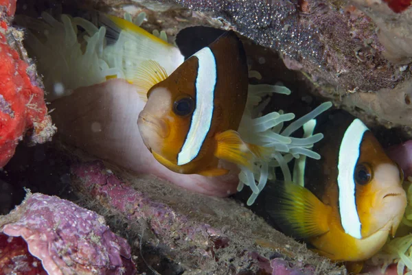
[{"label": "pink-and-brown encrusted rock ledge sloping down below the central clownfish", "polygon": [[[72,165],[72,173],[80,200],[112,216],[113,227],[139,247],[142,265],[152,263],[151,269],[161,274],[342,272],[327,261],[318,262],[321,257],[233,200],[190,193],[159,180],[137,179],[125,171],[108,169],[98,160]],[[153,262],[147,255],[153,249],[161,258],[178,263],[180,268],[175,268],[180,272],[161,272],[159,263],[164,260]]]}]

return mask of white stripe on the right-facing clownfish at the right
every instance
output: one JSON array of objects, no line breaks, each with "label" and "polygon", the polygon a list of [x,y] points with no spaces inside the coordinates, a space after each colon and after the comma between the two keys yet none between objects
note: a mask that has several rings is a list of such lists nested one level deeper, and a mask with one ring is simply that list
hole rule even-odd
[{"label": "white stripe on the right-facing clownfish at the right", "polygon": [[345,232],[352,237],[361,239],[361,220],[356,208],[356,185],[354,171],[361,153],[361,142],[367,127],[359,119],[352,121],[343,135],[339,148],[338,188],[339,212]]}]

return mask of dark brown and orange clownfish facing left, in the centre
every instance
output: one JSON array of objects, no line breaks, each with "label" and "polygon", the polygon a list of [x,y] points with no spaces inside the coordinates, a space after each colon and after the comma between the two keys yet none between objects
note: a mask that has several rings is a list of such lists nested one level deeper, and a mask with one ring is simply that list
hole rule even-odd
[{"label": "dark brown and orange clownfish facing left, in the centre", "polygon": [[140,86],[150,87],[137,121],[152,155],[179,174],[220,176],[227,160],[251,167],[271,150],[242,141],[238,127],[248,93],[242,42],[233,31],[218,36],[168,76],[157,62],[142,64]]}]

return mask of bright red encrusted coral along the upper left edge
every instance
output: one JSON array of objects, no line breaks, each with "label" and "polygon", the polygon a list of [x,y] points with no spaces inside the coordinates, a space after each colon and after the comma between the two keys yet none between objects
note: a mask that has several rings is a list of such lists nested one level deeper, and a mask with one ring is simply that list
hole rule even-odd
[{"label": "bright red encrusted coral along the upper left edge", "polygon": [[[5,5],[5,11],[12,15],[15,1],[6,2],[0,3],[0,8]],[[21,44],[22,35],[0,14],[0,167],[8,163],[25,132],[29,131],[31,143],[44,143],[56,131],[34,65]]]}]

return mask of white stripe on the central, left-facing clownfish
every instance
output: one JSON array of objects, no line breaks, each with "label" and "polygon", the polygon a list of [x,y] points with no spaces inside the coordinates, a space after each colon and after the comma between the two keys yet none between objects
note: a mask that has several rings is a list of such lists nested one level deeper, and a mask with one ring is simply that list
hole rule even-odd
[{"label": "white stripe on the central, left-facing clownfish", "polygon": [[185,143],[183,143],[181,152],[177,155],[177,165],[185,165],[196,158],[210,130],[214,110],[214,89],[217,76],[216,59],[209,47],[194,53],[194,56],[198,58],[196,107]]}]

